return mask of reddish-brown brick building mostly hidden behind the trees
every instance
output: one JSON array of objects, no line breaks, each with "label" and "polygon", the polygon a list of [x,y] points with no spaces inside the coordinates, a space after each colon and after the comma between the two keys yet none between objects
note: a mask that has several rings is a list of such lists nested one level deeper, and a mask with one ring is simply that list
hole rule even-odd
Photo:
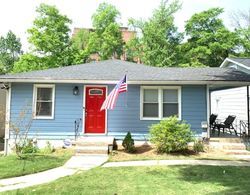
[{"label": "reddish-brown brick building mostly hidden behind the trees", "polygon": [[[95,31],[94,28],[74,28],[73,33],[72,33],[72,37],[74,37],[80,30],[85,30],[88,32]],[[136,36],[136,32],[129,30],[128,27],[120,27],[120,31],[122,34],[122,40],[125,44]],[[99,61],[100,57],[98,54],[91,54],[90,59],[93,61]],[[120,59],[122,59],[122,60],[127,59],[127,55],[126,55],[125,51],[123,51],[123,54],[122,54],[122,56],[120,56]],[[134,61],[140,62],[140,59],[134,59]]]}]

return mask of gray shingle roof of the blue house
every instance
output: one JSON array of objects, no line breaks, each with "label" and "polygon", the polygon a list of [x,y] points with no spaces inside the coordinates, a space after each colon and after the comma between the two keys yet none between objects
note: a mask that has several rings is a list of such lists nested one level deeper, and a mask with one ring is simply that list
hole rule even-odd
[{"label": "gray shingle roof of the blue house", "polygon": [[106,60],[61,68],[0,76],[0,82],[23,80],[115,81],[127,72],[129,81],[242,81],[250,76],[226,68],[160,68],[121,60]]}]

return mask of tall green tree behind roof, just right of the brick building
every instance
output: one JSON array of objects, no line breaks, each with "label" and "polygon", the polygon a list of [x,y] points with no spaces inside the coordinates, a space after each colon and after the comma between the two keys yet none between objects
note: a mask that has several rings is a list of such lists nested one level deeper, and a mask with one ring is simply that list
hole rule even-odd
[{"label": "tall green tree behind roof, just right of the brick building", "polygon": [[130,24],[141,33],[132,41],[130,51],[134,51],[145,64],[153,66],[176,66],[183,36],[174,25],[174,14],[180,9],[178,1],[162,1],[148,21],[131,19]]}]

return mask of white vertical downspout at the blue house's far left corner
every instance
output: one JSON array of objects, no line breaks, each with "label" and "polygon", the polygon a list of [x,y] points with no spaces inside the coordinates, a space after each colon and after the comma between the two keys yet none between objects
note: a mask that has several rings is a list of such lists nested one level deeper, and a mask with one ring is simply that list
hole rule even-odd
[{"label": "white vertical downspout at the blue house's far left corner", "polygon": [[9,153],[10,138],[10,104],[11,104],[11,83],[6,88],[6,113],[5,113],[5,136],[4,136],[4,155]]}]

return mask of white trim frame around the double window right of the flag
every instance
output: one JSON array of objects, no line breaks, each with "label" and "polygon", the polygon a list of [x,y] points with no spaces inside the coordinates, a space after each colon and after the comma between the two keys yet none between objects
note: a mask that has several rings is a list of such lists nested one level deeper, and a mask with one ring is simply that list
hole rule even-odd
[{"label": "white trim frame around the double window right of the flag", "polygon": [[[143,117],[143,93],[144,89],[158,89],[158,117]],[[181,120],[181,86],[141,86],[140,89],[140,120],[162,120],[163,117],[163,89],[178,90],[178,119]]]}]

